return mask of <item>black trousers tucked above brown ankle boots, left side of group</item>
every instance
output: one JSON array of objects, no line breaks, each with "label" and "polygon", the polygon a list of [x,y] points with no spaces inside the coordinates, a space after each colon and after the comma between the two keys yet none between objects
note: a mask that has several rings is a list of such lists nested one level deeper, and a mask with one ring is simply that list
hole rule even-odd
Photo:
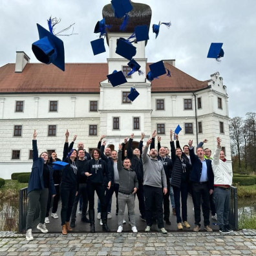
[{"label": "black trousers tucked above brown ankle boots, left side of group", "polygon": [[74,198],[76,197],[76,187],[60,186],[61,195],[61,226],[66,222],[69,222],[72,207],[74,204]]}]

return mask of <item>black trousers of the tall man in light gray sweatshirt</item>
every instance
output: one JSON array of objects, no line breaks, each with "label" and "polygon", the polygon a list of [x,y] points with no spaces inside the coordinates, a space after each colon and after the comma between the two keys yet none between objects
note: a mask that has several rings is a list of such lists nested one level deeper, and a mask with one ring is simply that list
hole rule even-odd
[{"label": "black trousers of the tall man in light gray sweatshirt", "polygon": [[156,211],[157,226],[158,228],[164,228],[162,187],[144,185],[144,195],[147,226],[153,225],[153,212]]}]

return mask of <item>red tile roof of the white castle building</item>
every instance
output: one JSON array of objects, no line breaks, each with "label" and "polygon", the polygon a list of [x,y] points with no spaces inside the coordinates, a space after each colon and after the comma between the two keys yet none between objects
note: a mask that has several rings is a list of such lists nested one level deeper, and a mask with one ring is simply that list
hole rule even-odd
[{"label": "red tile roof of the white castle building", "polygon": [[[147,64],[147,72],[149,65]],[[197,91],[208,87],[169,63],[171,78],[163,75],[152,81],[152,92]],[[65,72],[52,64],[28,63],[21,73],[15,63],[0,67],[0,93],[16,92],[100,92],[100,82],[107,79],[107,63],[65,63]]]}]

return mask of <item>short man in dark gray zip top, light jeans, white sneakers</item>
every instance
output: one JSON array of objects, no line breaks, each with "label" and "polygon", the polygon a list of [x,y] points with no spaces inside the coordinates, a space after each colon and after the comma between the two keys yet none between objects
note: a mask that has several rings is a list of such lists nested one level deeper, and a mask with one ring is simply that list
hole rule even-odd
[{"label": "short man in dark gray zip top, light jeans, white sneakers", "polygon": [[134,194],[138,190],[138,180],[136,173],[131,169],[131,160],[125,158],[122,165],[122,144],[118,150],[118,174],[119,174],[119,191],[118,191],[118,233],[123,231],[123,213],[127,204],[131,227],[134,233],[138,232],[135,222],[134,213]]}]

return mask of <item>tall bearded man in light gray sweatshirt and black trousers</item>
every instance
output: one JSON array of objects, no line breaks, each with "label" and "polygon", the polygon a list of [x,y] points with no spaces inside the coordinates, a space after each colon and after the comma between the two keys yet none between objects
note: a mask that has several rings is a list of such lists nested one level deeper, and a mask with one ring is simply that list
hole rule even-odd
[{"label": "tall bearded man in light gray sweatshirt and black trousers", "polygon": [[[144,195],[145,195],[145,217],[147,227],[145,232],[149,232],[153,224],[152,213],[156,210],[158,229],[166,234],[163,220],[163,194],[167,193],[167,182],[164,172],[164,165],[157,159],[156,149],[151,149],[149,156],[147,151],[152,140],[147,140],[147,144],[142,152],[142,162],[144,167]],[[163,193],[164,192],[164,193]]]}]

